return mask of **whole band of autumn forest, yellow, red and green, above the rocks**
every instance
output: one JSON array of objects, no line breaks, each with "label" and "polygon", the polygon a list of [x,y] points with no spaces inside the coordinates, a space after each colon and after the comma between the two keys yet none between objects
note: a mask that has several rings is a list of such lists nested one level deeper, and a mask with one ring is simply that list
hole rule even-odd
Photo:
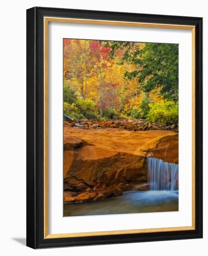
[{"label": "whole band of autumn forest, yellow, red and green, above the rocks", "polygon": [[178,45],[64,39],[64,113],[178,123]]}]

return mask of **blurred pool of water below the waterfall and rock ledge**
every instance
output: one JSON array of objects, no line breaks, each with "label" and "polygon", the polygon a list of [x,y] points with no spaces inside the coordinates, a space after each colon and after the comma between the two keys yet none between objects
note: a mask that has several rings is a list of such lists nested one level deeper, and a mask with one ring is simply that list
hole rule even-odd
[{"label": "blurred pool of water below the waterfall and rock ledge", "polygon": [[64,204],[64,216],[178,211],[178,191],[129,191],[94,202]]}]

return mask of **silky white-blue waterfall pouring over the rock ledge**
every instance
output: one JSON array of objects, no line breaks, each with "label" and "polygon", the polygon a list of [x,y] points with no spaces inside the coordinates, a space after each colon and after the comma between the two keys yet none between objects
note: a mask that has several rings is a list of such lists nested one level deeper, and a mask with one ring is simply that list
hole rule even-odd
[{"label": "silky white-blue waterfall pouring over the rock ledge", "polygon": [[150,190],[178,190],[178,164],[148,158]]}]

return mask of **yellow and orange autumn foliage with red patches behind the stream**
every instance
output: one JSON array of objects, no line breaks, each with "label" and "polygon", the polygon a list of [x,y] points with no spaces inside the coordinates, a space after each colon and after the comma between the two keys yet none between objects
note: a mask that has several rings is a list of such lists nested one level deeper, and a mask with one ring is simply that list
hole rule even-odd
[{"label": "yellow and orange autumn foliage with red patches behind the stream", "polygon": [[[128,80],[124,76],[126,71],[138,71],[140,67],[132,63],[118,65],[119,55],[110,58],[110,54],[105,55],[107,48],[103,48],[104,54],[101,53],[102,42],[97,43],[97,52],[92,52],[91,43],[95,42],[98,41],[69,40],[64,46],[65,81],[78,97],[91,100],[100,108],[113,108],[122,116],[125,113],[129,115],[132,109],[140,111],[144,97],[141,86],[136,78]],[[136,47],[142,49],[144,43],[132,44],[132,52]],[[164,103],[156,89],[150,92],[149,97],[152,102]]]}]

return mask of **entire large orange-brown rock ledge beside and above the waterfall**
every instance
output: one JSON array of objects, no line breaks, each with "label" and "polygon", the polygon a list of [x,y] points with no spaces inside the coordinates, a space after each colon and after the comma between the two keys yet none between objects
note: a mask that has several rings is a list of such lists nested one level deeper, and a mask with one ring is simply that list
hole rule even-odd
[{"label": "entire large orange-brown rock ledge beside and above the waterfall", "polygon": [[[64,202],[95,201],[123,191],[149,189],[146,156],[163,159],[164,147],[167,152],[176,148],[176,136],[168,130],[65,127]],[[172,161],[170,156],[165,155]]]}]

